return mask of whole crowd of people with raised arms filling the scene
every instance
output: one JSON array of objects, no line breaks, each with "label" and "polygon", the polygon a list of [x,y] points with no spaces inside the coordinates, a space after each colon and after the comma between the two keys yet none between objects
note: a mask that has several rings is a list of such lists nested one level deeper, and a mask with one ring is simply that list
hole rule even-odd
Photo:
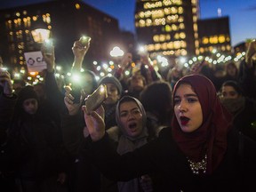
[{"label": "whole crowd of people with raised arms filling the scene", "polygon": [[[90,41],[73,44],[79,82],[60,87],[54,49],[44,83],[0,69],[0,190],[8,192],[244,191],[255,188],[256,42],[220,69],[205,60],[164,76],[148,55],[99,81],[81,72]],[[132,71],[132,61],[140,68]],[[125,70],[132,71],[130,76]],[[100,84],[108,97],[89,113]]]}]

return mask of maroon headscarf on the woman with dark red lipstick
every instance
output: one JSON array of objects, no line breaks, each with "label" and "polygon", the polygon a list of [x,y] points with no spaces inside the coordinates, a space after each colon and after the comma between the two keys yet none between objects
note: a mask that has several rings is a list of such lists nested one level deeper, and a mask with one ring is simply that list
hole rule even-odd
[{"label": "maroon headscarf on the woman with dark red lipstick", "polygon": [[[227,135],[232,117],[223,108],[212,81],[202,75],[180,78],[173,89],[174,95],[180,84],[190,84],[196,92],[203,111],[203,123],[195,132],[182,132],[177,118],[172,118],[172,135],[181,151],[193,161],[207,155],[206,173],[211,174],[220,164],[227,149]],[[172,99],[172,100],[173,100]]]}]

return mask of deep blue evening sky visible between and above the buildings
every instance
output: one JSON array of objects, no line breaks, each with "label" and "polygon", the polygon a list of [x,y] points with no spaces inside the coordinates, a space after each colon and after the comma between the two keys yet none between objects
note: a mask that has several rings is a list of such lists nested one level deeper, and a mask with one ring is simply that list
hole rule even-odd
[{"label": "deep blue evening sky visible between and above the buildings", "polygon": [[[0,8],[15,5],[33,4],[47,0],[0,0]],[[84,0],[102,12],[119,20],[121,29],[134,32],[134,9],[136,0]],[[201,19],[229,16],[231,44],[236,45],[247,38],[256,38],[256,1],[255,0],[200,0]]]}]

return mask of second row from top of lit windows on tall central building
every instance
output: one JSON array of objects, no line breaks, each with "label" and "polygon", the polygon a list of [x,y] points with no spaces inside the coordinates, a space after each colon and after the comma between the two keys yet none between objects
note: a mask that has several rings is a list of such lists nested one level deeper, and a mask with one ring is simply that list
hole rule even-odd
[{"label": "second row from top of lit windows on tall central building", "polygon": [[161,10],[152,10],[146,12],[139,12],[135,15],[135,18],[162,18],[164,15],[182,14],[184,12],[182,7],[168,7]]}]

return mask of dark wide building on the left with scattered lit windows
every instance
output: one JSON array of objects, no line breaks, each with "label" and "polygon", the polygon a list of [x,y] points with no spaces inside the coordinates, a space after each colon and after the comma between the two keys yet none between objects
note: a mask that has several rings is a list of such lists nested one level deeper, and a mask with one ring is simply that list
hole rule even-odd
[{"label": "dark wide building on the left with scattered lit windows", "polygon": [[30,36],[31,26],[44,20],[51,29],[56,62],[70,68],[71,47],[80,36],[92,37],[86,60],[109,57],[113,44],[119,41],[118,20],[79,0],[53,0],[40,4],[0,10],[0,50],[4,64],[10,68],[26,65],[24,52],[38,51]]}]

